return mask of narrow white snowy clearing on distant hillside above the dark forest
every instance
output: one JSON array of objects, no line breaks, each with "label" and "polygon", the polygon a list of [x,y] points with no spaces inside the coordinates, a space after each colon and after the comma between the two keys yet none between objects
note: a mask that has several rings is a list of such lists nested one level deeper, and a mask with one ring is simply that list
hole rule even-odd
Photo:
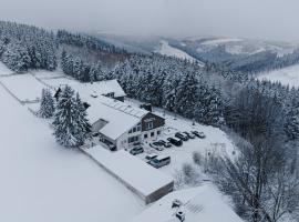
[{"label": "narrow white snowy clearing on distant hillside above the dark forest", "polygon": [[174,47],[171,47],[168,44],[167,41],[163,40],[159,43],[159,49],[156,50],[157,53],[164,54],[164,56],[168,56],[168,57],[176,57],[179,59],[186,59],[189,61],[195,61],[195,59],[193,57],[190,57],[189,54],[187,54],[186,52],[176,49]]}]

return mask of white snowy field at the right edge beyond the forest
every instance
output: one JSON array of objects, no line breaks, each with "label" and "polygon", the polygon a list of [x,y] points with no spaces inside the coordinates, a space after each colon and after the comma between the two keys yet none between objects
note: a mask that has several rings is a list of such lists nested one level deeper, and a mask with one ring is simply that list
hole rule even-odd
[{"label": "white snowy field at the right edge beyond the forest", "polygon": [[274,70],[270,72],[265,72],[258,75],[258,79],[279,81],[282,84],[289,84],[290,87],[299,87],[299,64],[287,67],[279,70]]}]

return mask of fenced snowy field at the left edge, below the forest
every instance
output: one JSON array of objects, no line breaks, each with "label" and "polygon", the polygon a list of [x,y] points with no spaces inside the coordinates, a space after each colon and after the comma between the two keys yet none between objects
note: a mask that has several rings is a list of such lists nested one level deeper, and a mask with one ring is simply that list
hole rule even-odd
[{"label": "fenced snowy field at the left edge, below the forest", "polygon": [[23,102],[39,100],[44,88],[41,82],[29,73],[3,77],[0,81]]}]

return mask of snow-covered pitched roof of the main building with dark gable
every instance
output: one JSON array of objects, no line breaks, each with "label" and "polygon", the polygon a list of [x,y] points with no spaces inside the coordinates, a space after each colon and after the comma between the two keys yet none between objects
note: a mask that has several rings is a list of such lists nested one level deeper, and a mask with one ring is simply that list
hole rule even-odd
[{"label": "snow-covered pitched roof of the main building with dark gable", "polygon": [[87,109],[90,122],[93,124],[100,119],[107,121],[100,132],[112,140],[127,132],[148,113],[146,110],[103,95],[90,97],[86,102],[91,105]]}]

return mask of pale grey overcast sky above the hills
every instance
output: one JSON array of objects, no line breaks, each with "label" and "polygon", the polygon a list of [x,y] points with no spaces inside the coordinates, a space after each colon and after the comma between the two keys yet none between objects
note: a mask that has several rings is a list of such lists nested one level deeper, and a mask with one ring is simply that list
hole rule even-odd
[{"label": "pale grey overcast sky above the hills", "polygon": [[0,0],[0,19],[54,29],[299,42],[299,0]]}]

